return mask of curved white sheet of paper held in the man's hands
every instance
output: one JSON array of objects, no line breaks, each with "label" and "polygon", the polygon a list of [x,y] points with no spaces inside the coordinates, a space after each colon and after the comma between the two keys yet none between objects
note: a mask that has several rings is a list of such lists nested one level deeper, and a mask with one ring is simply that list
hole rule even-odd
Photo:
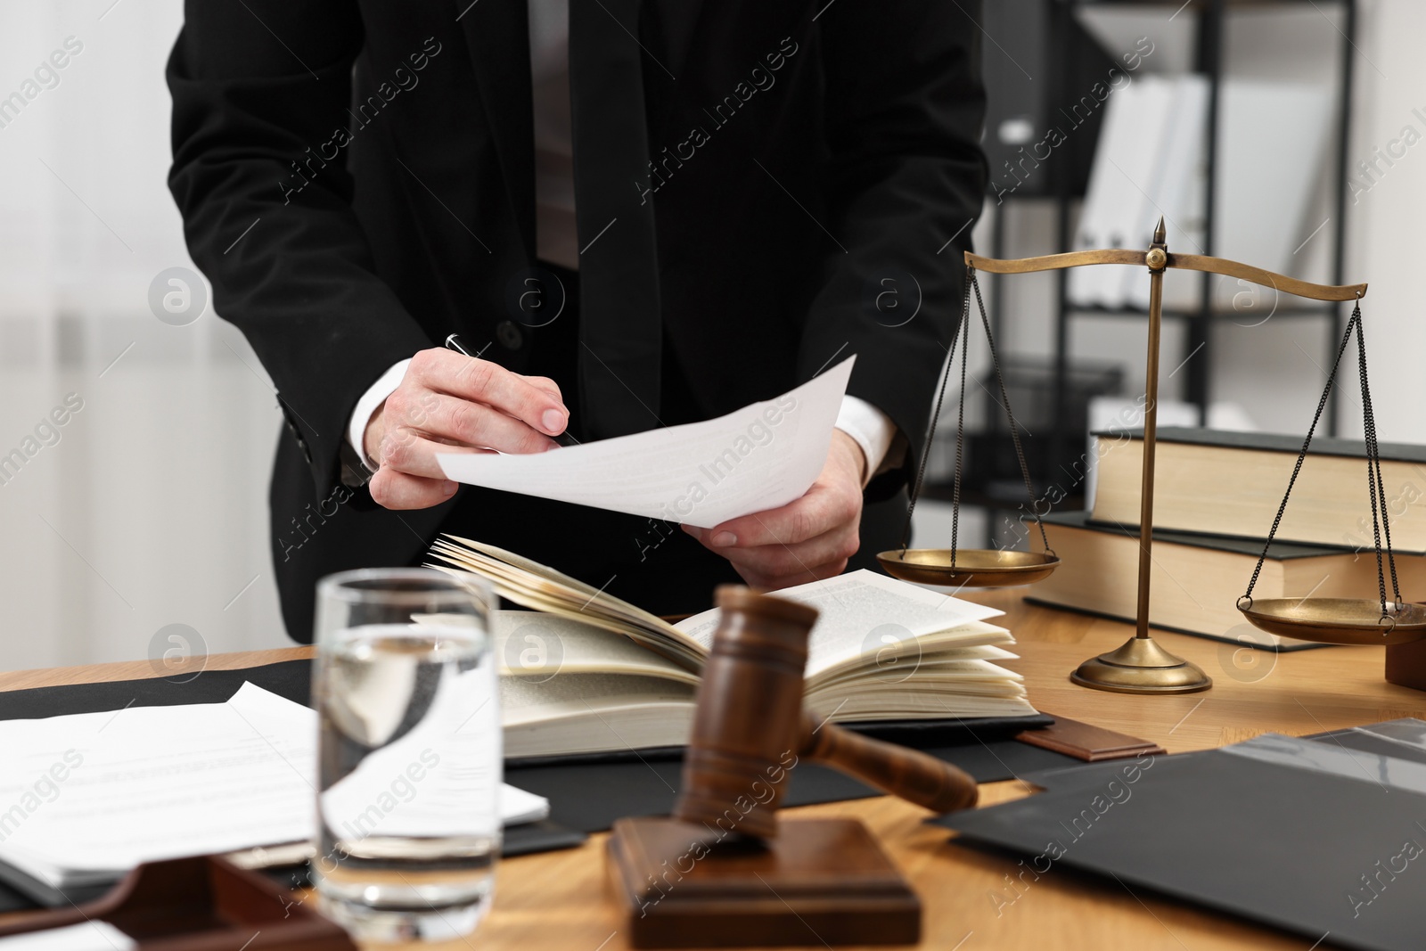
[{"label": "curved white sheet of paper held in the man's hands", "polygon": [[[726,416],[533,455],[439,453],[448,479],[710,529],[821,475],[856,356]],[[736,372],[736,371],[730,371]]]}]

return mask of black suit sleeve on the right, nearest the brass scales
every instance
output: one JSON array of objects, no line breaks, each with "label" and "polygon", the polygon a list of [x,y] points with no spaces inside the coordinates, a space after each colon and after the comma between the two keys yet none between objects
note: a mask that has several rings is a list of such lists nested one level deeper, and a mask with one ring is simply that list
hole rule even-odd
[{"label": "black suit sleeve on the right, nearest the brass scales", "polygon": [[847,392],[906,438],[903,465],[868,486],[871,498],[898,489],[925,452],[944,348],[961,315],[963,252],[987,181],[978,6],[841,0],[817,20],[836,244],[799,371],[811,375],[838,348],[856,354]]}]

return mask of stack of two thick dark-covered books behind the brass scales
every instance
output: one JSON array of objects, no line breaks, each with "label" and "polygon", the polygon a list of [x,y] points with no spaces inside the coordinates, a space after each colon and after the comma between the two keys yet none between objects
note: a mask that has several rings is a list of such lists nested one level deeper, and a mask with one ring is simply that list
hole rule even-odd
[{"label": "stack of two thick dark-covered books behind the brass scales", "polygon": [[[1278,649],[1312,646],[1258,630],[1236,609],[1301,449],[1301,436],[1158,431],[1151,624]],[[1062,563],[1031,589],[1031,600],[1134,620],[1142,433],[1097,432],[1092,453],[1091,508],[1044,519]],[[1380,455],[1402,599],[1419,600],[1426,597],[1426,446],[1383,442]],[[1362,442],[1319,436],[1253,597],[1376,599],[1375,549]],[[1389,575],[1386,587],[1390,597]]]}]

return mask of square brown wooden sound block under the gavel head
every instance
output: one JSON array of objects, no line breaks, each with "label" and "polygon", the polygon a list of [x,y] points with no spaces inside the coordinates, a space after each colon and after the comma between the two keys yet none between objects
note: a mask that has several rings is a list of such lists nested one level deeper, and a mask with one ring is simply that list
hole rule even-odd
[{"label": "square brown wooden sound block under the gavel head", "polygon": [[719,841],[673,818],[620,818],[609,883],[636,948],[915,944],[921,903],[854,818],[780,820]]}]

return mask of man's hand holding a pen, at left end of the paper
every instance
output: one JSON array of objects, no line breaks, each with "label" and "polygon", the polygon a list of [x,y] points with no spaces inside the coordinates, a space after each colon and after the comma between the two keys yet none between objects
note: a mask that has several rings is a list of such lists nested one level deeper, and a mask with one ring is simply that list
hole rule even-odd
[{"label": "man's hand holding a pen, at left end of the paper", "polygon": [[545,452],[568,423],[555,381],[424,349],[366,423],[362,449],[381,465],[371,498],[388,509],[439,505],[456,486],[436,465],[438,452]]}]

